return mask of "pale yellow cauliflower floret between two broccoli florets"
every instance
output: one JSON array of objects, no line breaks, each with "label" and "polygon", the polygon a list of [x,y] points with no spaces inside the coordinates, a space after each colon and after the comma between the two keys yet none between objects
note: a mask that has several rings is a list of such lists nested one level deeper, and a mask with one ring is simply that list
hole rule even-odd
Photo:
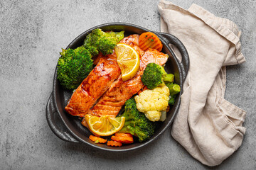
[{"label": "pale yellow cauliflower floret between two broccoli florets", "polygon": [[159,121],[161,111],[166,111],[169,101],[169,88],[158,86],[153,90],[142,91],[139,96],[135,96],[137,109],[145,113],[146,118],[155,122]]}]

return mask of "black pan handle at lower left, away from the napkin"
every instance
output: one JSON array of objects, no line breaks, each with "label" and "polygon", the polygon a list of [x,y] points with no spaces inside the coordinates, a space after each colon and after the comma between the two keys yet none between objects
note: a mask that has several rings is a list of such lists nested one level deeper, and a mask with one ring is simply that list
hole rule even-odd
[{"label": "black pan handle at lower left, away from the napkin", "polygon": [[55,107],[53,106],[53,94],[50,94],[50,98],[48,100],[47,106],[46,106],[46,119],[48,122],[48,125],[50,126],[50,130],[54,132],[54,134],[59,137],[61,140],[64,140],[66,142],[74,142],[78,143],[78,140],[75,140],[75,138],[70,135],[69,132],[65,132],[64,130],[60,130],[58,128],[58,123],[56,123],[54,115],[57,114],[57,111],[55,110]]}]

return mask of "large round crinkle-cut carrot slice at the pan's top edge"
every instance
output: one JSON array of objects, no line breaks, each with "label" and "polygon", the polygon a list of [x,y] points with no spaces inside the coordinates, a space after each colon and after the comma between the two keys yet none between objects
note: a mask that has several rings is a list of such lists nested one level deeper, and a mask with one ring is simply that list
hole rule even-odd
[{"label": "large round crinkle-cut carrot slice at the pan's top edge", "polygon": [[146,51],[148,48],[154,48],[161,51],[163,44],[154,33],[146,32],[139,35],[139,47],[144,51]]}]

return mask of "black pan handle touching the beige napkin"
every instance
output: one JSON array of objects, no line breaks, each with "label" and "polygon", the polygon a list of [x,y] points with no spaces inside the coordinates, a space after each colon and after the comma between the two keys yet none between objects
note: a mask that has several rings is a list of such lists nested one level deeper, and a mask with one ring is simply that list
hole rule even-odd
[{"label": "black pan handle touching the beige napkin", "polygon": [[178,48],[179,52],[181,52],[181,56],[182,56],[182,61],[180,63],[181,72],[183,75],[183,80],[185,80],[186,75],[188,74],[188,69],[189,69],[189,57],[188,57],[188,52],[186,50],[186,47],[174,35],[171,35],[169,33],[159,33],[159,32],[157,34],[161,35],[161,37],[164,38],[167,44],[171,43],[172,45]]}]

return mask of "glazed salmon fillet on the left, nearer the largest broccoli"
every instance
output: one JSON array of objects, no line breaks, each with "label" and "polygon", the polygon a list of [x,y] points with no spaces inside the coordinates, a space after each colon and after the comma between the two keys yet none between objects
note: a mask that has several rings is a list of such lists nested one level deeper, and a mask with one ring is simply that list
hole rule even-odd
[{"label": "glazed salmon fillet on the left, nearer the largest broccoli", "polygon": [[[139,35],[129,35],[120,42],[131,46],[138,45]],[[137,52],[142,53],[143,51]],[[95,60],[97,60],[95,62],[97,65],[73,92],[68,105],[65,106],[65,111],[70,115],[85,116],[97,99],[110,88],[114,80],[121,74],[114,52],[107,56],[100,54]]]}]

